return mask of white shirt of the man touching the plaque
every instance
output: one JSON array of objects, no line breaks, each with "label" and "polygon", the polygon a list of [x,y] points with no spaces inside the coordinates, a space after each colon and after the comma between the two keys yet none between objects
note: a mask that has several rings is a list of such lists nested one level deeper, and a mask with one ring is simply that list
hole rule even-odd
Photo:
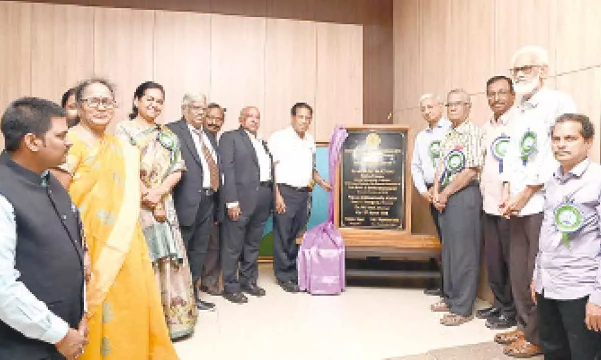
[{"label": "white shirt of the man touching the plaque", "polygon": [[315,139],[309,133],[301,139],[290,125],[272,134],[269,150],[273,155],[275,180],[278,184],[308,187],[313,181]]}]

